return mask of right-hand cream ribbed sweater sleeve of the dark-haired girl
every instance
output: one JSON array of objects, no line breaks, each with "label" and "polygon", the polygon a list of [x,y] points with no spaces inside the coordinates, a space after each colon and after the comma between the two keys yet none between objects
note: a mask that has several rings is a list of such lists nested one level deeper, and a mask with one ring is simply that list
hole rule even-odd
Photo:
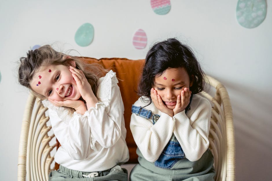
[{"label": "right-hand cream ribbed sweater sleeve of the dark-haired girl", "polygon": [[202,98],[190,119],[182,111],[173,116],[176,120],[174,135],[184,151],[185,157],[190,161],[197,161],[209,147],[209,127],[211,105]]}]

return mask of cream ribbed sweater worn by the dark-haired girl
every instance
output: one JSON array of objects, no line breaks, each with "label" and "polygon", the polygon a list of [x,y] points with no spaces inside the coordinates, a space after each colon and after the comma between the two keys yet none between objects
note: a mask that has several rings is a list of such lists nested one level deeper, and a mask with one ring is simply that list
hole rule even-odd
[{"label": "cream ribbed sweater worn by the dark-haired girl", "polygon": [[[145,98],[145,100],[148,100]],[[134,105],[144,107],[148,103],[139,98]],[[147,161],[155,162],[167,143],[172,133],[179,141],[185,158],[197,161],[209,146],[209,128],[211,117],[210,102],[194,94],[190,104],[191,109],[187,115],[185,111],[170,117],[159,111],[153,102],[144,107],[151,110],[152,114],[160,115],[153,125],[152,119],[140,117],[135,113],[131,115],[130,128],[139,150]]]}]

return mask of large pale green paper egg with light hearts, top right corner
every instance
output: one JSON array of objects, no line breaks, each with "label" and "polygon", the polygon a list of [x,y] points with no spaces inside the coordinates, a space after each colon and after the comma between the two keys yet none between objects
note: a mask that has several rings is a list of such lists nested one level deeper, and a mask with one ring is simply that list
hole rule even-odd
[{"label": "large pale green paper egg with light hearts, top right corner", "polygon": [[238,0],[236,18],[241,26],[255,28],[263,22],[266,12],[265,0]]}]

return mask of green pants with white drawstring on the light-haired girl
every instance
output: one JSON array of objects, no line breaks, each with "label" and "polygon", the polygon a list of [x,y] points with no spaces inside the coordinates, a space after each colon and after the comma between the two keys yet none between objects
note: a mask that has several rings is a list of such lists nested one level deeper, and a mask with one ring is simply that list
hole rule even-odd
[{"label": "green pants with white drawstring on the light-haired girl", "polygon": [[[93,176],[93,177],[91,177]],[[49,174],[49,181],[107,181],[118,180],[127,181],[128,172],[119,165],[115,167],[98,172],[82,172],[71,170],[60,165],[57,171],[51,171]]]}]

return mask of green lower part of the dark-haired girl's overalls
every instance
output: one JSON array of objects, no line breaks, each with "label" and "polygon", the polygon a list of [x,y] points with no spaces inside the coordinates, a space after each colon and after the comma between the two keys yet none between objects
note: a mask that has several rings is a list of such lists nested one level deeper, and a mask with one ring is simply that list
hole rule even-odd
[{"label": "green lower part of the dark-haired girl's overalls", "polygon": [[130,173],[131,181],[212,181],[215,170],[214,158],[208,149],[198,161],[191,162],[187,158],[180,159],[171,169],[156,167],[154,162],[147,161],[137,148],[139,164]]}]

